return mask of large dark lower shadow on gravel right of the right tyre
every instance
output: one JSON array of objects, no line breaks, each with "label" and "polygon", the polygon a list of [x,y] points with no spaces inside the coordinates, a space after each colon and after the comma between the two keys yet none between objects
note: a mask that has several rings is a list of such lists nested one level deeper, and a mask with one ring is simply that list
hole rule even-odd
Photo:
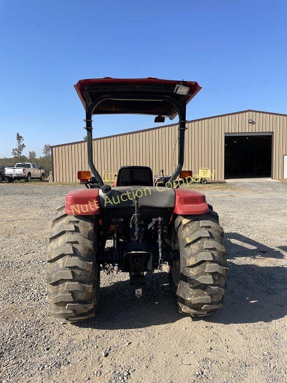
[{"label": "large dark lower shadow on gravel right of the right tyre", "polygon": [[[261,260],[262,263],[265,259]],[[214,323],[272,322],[287,315],[287,268],[229,262],[224,306]]]}]

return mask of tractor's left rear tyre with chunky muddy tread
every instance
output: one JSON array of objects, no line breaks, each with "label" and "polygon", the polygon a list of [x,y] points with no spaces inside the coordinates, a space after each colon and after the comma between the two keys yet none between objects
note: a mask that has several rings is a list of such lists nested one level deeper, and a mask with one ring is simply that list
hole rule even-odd
[{"label": "tractor's left rear tyre with chunky muddy tread", "polygon": [[94,316],[100,292],[97,235],[94,217],[68,215],[64,205],[58,207],[48,246],[47,290],[51,313],[61,321]]}]

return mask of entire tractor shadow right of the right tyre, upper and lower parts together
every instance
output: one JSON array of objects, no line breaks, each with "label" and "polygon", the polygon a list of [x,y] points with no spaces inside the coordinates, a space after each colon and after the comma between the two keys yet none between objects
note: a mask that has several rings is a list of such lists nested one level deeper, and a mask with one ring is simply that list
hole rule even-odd
[{"label": "entire tractor shadow right of the right tyre, upper and lower parts together", "polygon": [[272,266],[270,258],[284,258],[279,249],[284,251],[285,246],[274,249],[234,232],[225,233],[224,238],[229,259],[246,257],[256,260],[257,264],[229,262],[224,306],[211,317],[211,322],[254,323],[284,318],[287,315],[287,268]]}]

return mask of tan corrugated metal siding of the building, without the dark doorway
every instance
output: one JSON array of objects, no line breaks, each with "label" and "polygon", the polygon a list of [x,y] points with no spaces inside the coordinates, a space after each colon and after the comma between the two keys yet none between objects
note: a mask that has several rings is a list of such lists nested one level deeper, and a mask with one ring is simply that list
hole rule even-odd
[{"label": "tan corrugated metal siding of the building, without the dark doorway", "polygon": [[[196,174],[200,167],[208,167],[216,180],[223,180],[224,134],[256,132],[273,132],[272,177],[282,179],[283,155],[287,154],[287,116],[257,111],[189,121],[183,169]],[[170,175],[177,165],[177,124],[98,138],[93,141],[93,149],[95,166],[101,175],[104,170],[117,173],[124,165],[146,165],[153,174],[164,169]],[[77,182],[78,170],[89,169],[85,142],[55,146],[52,150],[55,182]]]}]

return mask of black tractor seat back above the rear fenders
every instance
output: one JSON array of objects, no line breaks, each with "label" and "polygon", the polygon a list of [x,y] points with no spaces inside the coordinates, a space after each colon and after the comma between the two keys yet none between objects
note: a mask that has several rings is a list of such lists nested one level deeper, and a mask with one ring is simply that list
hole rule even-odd
[{"label": "black tractor seat back above the rear fenders", "polygon": [[153,186],[152,171],[148,166],[122,166],[116,186]]}]

